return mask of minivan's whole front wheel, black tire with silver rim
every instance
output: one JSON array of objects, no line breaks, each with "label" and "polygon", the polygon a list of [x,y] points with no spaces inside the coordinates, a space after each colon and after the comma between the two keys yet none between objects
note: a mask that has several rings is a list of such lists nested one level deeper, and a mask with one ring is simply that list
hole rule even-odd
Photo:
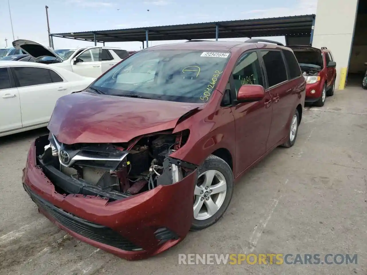
[{"label": "minivan's whole front wheel, black tire with silver rim", "polygon": [[194,191],[194,220],[190,230],[216,223],[227,210],[233,195],[233,173],[221,158],[210,155],[198,171]]}]

